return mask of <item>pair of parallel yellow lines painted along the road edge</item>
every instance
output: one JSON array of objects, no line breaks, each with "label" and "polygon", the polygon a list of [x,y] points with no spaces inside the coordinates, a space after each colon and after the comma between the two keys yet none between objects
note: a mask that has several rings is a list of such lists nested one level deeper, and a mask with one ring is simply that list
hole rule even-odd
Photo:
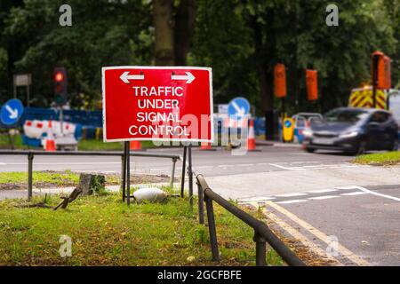
[{"label": "pair of parallel yellow lines painted along the road edge", "polygon": [[[259,204],[257,202],[251,202],[250,204],[252,206],[254,206],[256,209],[259,208]],[[266,201],[265,204],[266,204],[266,207],[269,206],[273,209],[276,209],[276,211],[282,213],[285,217],[288,217],[294,223],[300,225],[305,230],[307,230],[309,233],[313,234],[314,236],[316,236],[316,238],[323,241],[327,245],[331,245],[331,243],[329,241],[329,237],[326,234],[322,233],[321,231],[316,229],[314,226],[309,225],[306,221],[304,221],[304,220],[300,219],[299,217],[297,217],[296,215],[292,214],[292,212],[289,212],[288,210],[284,209],[283,207],[277,205],[276,203],[274,203],[272,201]],[[327,254],[326,251],[324,251],[324,249],[316,246],[316,244],[314,242],[309,241],[306,236],[304,236],[298,230],[294,229],[291,225],[288,225],[286,222],[284,222],[284,220],[277,217],[275,214],[268,211],[266,208],[262,209],[262,213],[266,217],[271,219],[273,222],[275,222],[277,225],[279,225],[282,229],[284,229],[284,231],[291,234],[292,237],[299,240],[304,246],[308,247],[311,251],[313,251],[317,255],[330,260],[333,264],[344,265],[338,259]],[[360,256],[357,256],[355,253],[350,251],[348,248],[345,248],[342,245],[340,245],[340,243],[337,244],[337,251],[340,253],[341,256],[348,258],[349,260],[351,260],[353,263],[355,263],[357,265],[362,265],[362,266],[371,265],[367,261],[365,261],[363,258],[361,258]]]}]

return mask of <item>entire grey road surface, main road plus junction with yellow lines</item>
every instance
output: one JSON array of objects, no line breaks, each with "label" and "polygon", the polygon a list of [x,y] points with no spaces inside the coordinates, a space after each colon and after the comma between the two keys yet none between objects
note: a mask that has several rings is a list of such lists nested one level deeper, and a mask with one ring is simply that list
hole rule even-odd
[{"label": "entire grey road surface, main road plus junction with yellow lines", "polygon": [[[357,165],[351,162],[353,156],[329,151],[308,154],[293,145],[259,144],[258,150],[231,155],[221,148],[194,148],[194,170],[204,175],[215,192],[260,208],[268,225],[332,264],[400,265],[400,167]],[[0,171],[26,170],[26,160],[25,156],[0,156]],[[172,162],[134,157],[131,167],[136,174],[169,175]],[[178,162],[178,176],[180,167]],[[34,170],[119,173],[120,168],[118,157],[34,159]]]}]

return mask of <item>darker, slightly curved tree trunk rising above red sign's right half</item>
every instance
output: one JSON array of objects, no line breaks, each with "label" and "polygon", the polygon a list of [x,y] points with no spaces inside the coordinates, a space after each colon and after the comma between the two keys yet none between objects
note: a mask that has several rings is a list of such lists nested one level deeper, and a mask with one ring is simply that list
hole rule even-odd
[{"label": "darker, slightly curved tree trunk rising above red sign's right half", "polygon": [[193,28],[195,27],[195,20],[195,0],[180,1],[180,5],[175,16],[174,29],[174,58],[175,64],[178,66],[187,65],[188,48]]}]

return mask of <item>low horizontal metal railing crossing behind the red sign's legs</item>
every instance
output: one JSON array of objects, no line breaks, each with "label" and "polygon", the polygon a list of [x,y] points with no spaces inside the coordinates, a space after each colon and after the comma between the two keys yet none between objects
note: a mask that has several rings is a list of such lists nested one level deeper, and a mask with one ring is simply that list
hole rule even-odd
[{"label": "low horizontal metal railing crossing behind the red sign's legs", "polygon": [[[35,155],[59,155],[59,156],[120,156],[121,157],[121,169],[124,168],[124,151],[38,151],[38,150],[0,150],[0,154],[19,154],[28,156],[28,200],[32,198],[32,171],[33,171],[33,160]],[[173,185],[175,176],[175,165],[180,160],[179,154],[157,154],[157,153],[146,153],[146,152],[130,152],[130,156],[135,157],[152,157],[152,158],[165,158],[172,160],[172,174],[170,184]],[[123,171],[122,171],[123,172]]]}]

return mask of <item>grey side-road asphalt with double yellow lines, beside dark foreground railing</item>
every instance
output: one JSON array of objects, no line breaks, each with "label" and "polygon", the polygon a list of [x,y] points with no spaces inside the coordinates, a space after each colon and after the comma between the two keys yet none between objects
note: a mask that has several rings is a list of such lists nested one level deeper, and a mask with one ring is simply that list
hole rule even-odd
[{"label": "grey side-road asphalt with double yellow lines, beside dark foreground railing", "polygon": [[252,205],[280,233],[337,265],[400,265],[400,185],[282,194]]}]

